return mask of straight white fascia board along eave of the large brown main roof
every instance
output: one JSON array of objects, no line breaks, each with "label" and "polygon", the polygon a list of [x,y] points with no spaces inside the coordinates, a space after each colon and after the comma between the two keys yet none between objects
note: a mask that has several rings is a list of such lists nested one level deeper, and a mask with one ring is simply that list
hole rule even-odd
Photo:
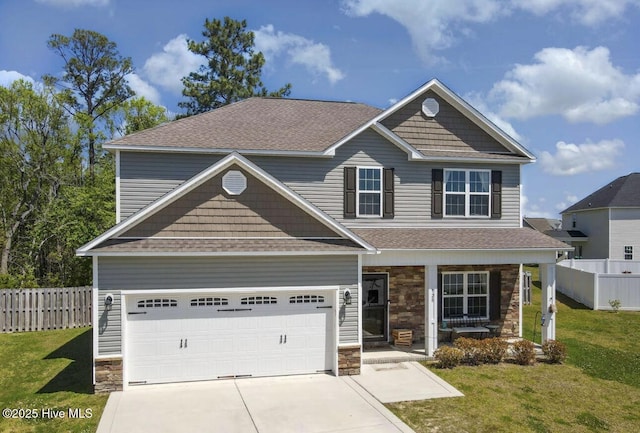
[{"label": "straight white fascia board along eave of the large brown main roof", "polygon": [[238,153],[242,155],[257,156],[292,156],[292,157],[309,157],[309,158],[328,158],[324,151],[296,151],[296,150],[260,150],[260,149],[207,149],[202,147],[179,147],[179,146],[153,146],[153,145],[123,145],[123,144],[104,144],[104,149],[110,152],[154,152],[154,153],[199,153],[213,155],[228,155],[230,153]]}]

